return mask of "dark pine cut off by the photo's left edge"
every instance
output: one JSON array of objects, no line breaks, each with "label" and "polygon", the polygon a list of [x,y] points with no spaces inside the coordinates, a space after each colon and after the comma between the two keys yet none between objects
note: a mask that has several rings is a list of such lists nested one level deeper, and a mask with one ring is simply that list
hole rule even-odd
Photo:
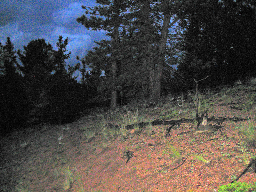
[{"label": "dark pine cut off by the photo's left edge", "polygon": [[4,46],[0,44],[0,132],[7,133],[20,128],[26,119],[27,104],[24,101],[22,78],[10,37]]}]

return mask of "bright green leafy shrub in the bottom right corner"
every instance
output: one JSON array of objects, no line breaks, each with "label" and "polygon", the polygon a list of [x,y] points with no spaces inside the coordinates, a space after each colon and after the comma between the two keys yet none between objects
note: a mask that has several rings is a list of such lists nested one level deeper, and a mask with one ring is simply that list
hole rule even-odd
[{"label": "bright green leafy shrub in the bottom right corner", "polygon": [[228,185],[221,185],[218,192],[256,192],[256,183],[234,182]]}]

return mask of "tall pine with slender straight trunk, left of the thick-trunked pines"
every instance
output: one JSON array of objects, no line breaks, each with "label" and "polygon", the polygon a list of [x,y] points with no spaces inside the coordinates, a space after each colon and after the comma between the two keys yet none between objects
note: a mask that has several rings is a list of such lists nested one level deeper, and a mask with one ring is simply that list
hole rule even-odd
[{"label": "tall pine with slender straight trunk, left of the thick-trunked pines", "polygon": [[[116,108],[117,99],[117,86],[116,86],[116,69],[118,60],[118,43],[119,43],[119,27],[122,23],[122,12],[127,7],[127,1],[110,0],[110,1],[97,1],[101,6],[94,8],[82,6],[86,10],[86,14],[90,13],[91,17],[88,19],[85,15],[77,18],[77,22],[82,23],[87,29],[105,30],[107,36],[112,38],[111,41],[111,107]],[[100,15],[100,17],[96,17]]]}]

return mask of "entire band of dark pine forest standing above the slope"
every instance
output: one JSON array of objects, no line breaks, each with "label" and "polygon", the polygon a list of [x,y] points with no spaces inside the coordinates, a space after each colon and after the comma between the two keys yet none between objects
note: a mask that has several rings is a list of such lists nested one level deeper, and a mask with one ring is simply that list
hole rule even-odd
[{"label": "entire band of dark pine forest standing above the slope", "polygon": [[[217,88],[255,77],[256,3],[250,0],[97,0],[82,6],[77,22],[108,38],[77,64],[68,38],[44,39],[14,50],[0,44],[0,132],[29,125],[72,122],[94,107],[117,108],[133,100],[201,87]],[[90,70],[88,70],[88,67]],[[77,82],[75,71],[82,73]]]}]

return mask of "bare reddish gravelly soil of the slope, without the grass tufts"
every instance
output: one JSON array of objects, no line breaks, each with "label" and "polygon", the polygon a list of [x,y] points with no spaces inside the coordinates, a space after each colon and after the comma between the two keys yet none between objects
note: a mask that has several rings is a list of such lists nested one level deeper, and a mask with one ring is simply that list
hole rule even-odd
[{"label": "bare reddish gravelly soil of the slope, without the grass tufts", "polygon": [[[244,112],[230,105],[217,103],[212,111],[208,116],[246,118]],[[171,130],[169,138],[165,138],[166,125],[157,125],[150,136],[142,128],[128,139],[118,136],[104,141],[99,133],[89,142],[80,129],[84,124],[80,119],[43,130],[17,131],[1,138],[0,191],[213,192],[236,179],[246,167],[237,127],[248,121],[225,121],[223,135],[204,132],[177,136],[193,126],[182,123]],[[168,143],[180,152],[180,160],[172,157]],[[126,150],[134,152],[128,163]],[[211,163],[199,161],[192,154],[203,155]],[[256,182],[253,168],[238,181]],[[74,181],[64,190],[67,170]]]}]

